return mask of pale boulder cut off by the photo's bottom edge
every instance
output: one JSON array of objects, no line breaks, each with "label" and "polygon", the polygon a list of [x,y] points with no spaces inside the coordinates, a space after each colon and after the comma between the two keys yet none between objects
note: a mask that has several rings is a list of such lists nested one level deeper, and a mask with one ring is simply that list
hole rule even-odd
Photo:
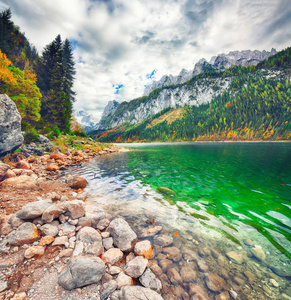
[{"label": "pale boulder cut off by the photo's bottom edge", "polygon": [[124,286],[121,288],[120,300],[163,300],[157,292],[142,286]]}]

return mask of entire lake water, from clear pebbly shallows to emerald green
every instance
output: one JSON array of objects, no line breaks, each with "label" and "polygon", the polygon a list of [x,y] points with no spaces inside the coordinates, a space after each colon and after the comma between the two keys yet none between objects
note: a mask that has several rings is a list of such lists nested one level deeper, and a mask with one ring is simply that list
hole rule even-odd
[{"label": "entire lake water, from clear pebbly shallows to emerald green", "polygon": [[[198,255],[198,260],[184,255],[174,262],[177,270],[187,265],[197,272],[195,284],[205,286],[205,274],[212,272],[225,279],[238,299],[291,297],[291,143],[130,146],[137,150],[69,170],[89,180],[90,200],[111,216],[124,216],[138,233],[148,219],[163,226],[182,253],[188,249]],[[158,193],[159,187],[175,194]],[[263,262],[252,255],[255,245],[266,255]],[[230,251],[243,254],[244,262],[231,262]],[[189,292],[188,283],[181,286]],[[210,299],[218,294],[207,292]],[[165,295],[171,293],[182,297],[170,286]]]}]

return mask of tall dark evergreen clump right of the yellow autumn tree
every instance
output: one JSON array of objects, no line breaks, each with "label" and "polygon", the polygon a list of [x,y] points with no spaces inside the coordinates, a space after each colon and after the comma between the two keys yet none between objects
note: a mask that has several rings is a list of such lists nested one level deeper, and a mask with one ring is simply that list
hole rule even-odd
[{"label": "tall dark evergreen clump right of the yellow autumn tree", "polygon": [[44,48],[37,64],[38,86],[44,95],[41,116],[44,121],[68,132],[75,93],[72,90],[75,74],[72,49],[61,36]]}]

